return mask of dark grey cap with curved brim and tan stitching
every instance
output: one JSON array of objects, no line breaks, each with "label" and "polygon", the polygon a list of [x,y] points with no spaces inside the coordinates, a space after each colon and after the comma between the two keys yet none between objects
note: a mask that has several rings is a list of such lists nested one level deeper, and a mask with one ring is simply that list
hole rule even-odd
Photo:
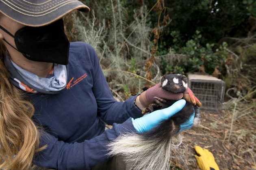
[{"label": "dark grey cap with curved brim and tan stitching", "polygon": [[0,12],[26,26],[45,26],[67,13],[90,8],[78,0],[0,0]]}]

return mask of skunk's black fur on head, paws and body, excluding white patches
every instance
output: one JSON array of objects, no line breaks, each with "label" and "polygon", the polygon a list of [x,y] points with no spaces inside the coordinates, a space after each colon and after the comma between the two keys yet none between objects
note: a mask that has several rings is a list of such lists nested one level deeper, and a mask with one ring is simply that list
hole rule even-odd
[{"label": "skunk's black fur on head, paws and body, excluding white patches", "polygon": [[[179,84],[173,82],[173,78],[176,78],[179,80]],[[163,84],[163,81],[167,79],[168,83],[165,85],[165,88],[167,91],[172,93],[184,93],[186,88],[184,85],[180,82],[182,80],[187,83],[187,77],[180,74],[167,74],[161,79],[161,83]],[[182,84],[182,85],[181,85]],[[179,87],[178,87],[179,86]],[[162,98],[155,98],[155,102],[151,103],[148,107],[150,112],[153,112],[155,110],[167,108],[174,104],[177,100],[167,100]],[[158,140],[159,144],[168,143],[168,140],[171,140],[172,137],[177,136],[180,131],[180,125],[183,123],[186,123],[191,115],[195,112],[195,117],[199,117],[200,115],[200,109],[198,106],[195,106],[189,102],[186,102],[186,105],[182,110],[180,110],[178,113],[173,115],[167,120],[162,121],[159,123],[159,125],[149,132],[144,132],[141,135],[145,140]]]}]

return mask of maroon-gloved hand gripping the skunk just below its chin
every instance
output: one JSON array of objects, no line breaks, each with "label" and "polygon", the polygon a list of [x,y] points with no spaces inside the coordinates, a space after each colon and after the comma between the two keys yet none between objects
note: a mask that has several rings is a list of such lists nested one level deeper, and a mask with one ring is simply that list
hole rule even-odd
[{"label": "maroon-gloved hand gripping the skunk just below its chin", "polygon": [[[154,97],[169,99],[169,100],[179,100],[183,97],[182,93],[171,93],[165,89],[163,89],[161,83],[150,87],[146,91],[143,91],[139,95],[139,102],[142,104],[144,108],[148,107],[151,102],[154,102]],[[137,101],[136,101],[137,102]],[[137,103],[138,104],[138,103]]]}]

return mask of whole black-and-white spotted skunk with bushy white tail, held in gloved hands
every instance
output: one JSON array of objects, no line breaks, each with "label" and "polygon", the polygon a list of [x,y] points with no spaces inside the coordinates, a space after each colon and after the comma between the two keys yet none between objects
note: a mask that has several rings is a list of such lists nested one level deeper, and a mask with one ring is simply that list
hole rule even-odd
[{"label": "whole black-and-white spotted skunk with bushy white tail, held in gloved hands", "polygon": [[[181,74],[167,74],[161,79],[162,88],[172,93],[184,93],[187,88],[187,77]],[[153,112],[167,108],[177,100],[156,98],[148,110]],[[161,121],[152,130],[143,133],[120,135],[108,144],[108,155],[119,155],[134,170],[169,170],[172,152],[182,142],[179,135],[180,125],[187,122],[195,113],[193,124],[200,118],[198,106],[186,102],[184,108],[167,120]]]}]

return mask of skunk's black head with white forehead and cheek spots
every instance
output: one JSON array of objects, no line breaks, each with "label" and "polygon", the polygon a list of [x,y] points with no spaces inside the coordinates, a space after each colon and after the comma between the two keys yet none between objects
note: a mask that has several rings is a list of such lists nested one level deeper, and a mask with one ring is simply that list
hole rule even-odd
[{"label": "skunk's black head with white forehead and cheek spots", "polygon": [[162,77],[161,84],[163,89],[172,93],[184,93],[188,87],[187,77],[181,74],[167,74]]}]

